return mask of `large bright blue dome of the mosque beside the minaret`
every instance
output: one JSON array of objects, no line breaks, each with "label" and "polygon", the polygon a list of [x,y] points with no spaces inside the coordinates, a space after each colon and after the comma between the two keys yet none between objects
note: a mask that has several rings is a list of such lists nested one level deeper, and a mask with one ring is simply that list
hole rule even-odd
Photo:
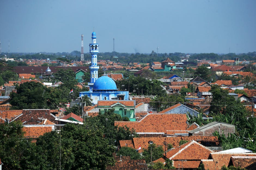
[{"label": "large bright blue dome of the mosque beside the minaret", "polygon": [[95,81],[93,90],[117,90],[117,85],[108,76],[101,76]]}]

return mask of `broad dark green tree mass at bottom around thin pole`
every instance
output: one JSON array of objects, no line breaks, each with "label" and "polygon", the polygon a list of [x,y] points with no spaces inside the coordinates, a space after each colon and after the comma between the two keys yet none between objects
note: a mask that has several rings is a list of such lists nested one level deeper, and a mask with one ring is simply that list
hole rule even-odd
[{"label": "broad dark green tree mass at bottom around thin pole", "polygon": [[38,157],[44,160],[38,162],[39,169],[59,169],[59,159],[63,169],[105,169],[106,165],[114,164],[112,153],[115,149],[95,126],[68,123],[60,135],[52,131],[37,140]]}]

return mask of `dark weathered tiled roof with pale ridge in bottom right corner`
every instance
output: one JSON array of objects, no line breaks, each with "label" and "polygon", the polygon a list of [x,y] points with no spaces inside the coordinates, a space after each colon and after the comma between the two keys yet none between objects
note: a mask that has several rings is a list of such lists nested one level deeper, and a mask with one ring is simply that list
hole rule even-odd
[{"label": "dark weathered tiled roof with pale ridge in bottom right corner", "polygon": [[256,168],[256,156],[231,156],[231,161],[235,167],[248,168],[254,164],[250,169]]}]

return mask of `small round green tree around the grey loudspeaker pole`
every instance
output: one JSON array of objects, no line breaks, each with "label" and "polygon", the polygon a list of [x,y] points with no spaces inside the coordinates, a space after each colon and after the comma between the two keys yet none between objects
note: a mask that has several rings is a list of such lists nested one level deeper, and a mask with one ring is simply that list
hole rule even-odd
[{"label": "small round green tree around the grey loudspeaker pole", "polygon": [[152,161],[155,161],[159,158],[161,158],[163,155],[163,147],[162,146],[156,146],[156,144],[152,144],[148,146],[148,149],[143,149],[142,155],[145,158],[145,161],[151,162],[151,149],[152,149]]}]

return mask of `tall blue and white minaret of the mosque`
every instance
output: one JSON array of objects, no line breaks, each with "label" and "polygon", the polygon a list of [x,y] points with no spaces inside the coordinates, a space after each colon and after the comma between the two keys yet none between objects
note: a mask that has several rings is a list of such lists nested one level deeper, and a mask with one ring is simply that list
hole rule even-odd
[{"label": "tall blue and white minaret of the mosque", "polygon": [[88,85],[90,86],[90,91],[93,89],[94,82],[98,79],[98,70],[99,66],[97,66],[97,54],[99,52],[99,44],[96,44],[96,33],[93,31],[92,33],[92,44],[89,44],[90,53],[91,53],[91,66],[90,69],[90,82]]}]

